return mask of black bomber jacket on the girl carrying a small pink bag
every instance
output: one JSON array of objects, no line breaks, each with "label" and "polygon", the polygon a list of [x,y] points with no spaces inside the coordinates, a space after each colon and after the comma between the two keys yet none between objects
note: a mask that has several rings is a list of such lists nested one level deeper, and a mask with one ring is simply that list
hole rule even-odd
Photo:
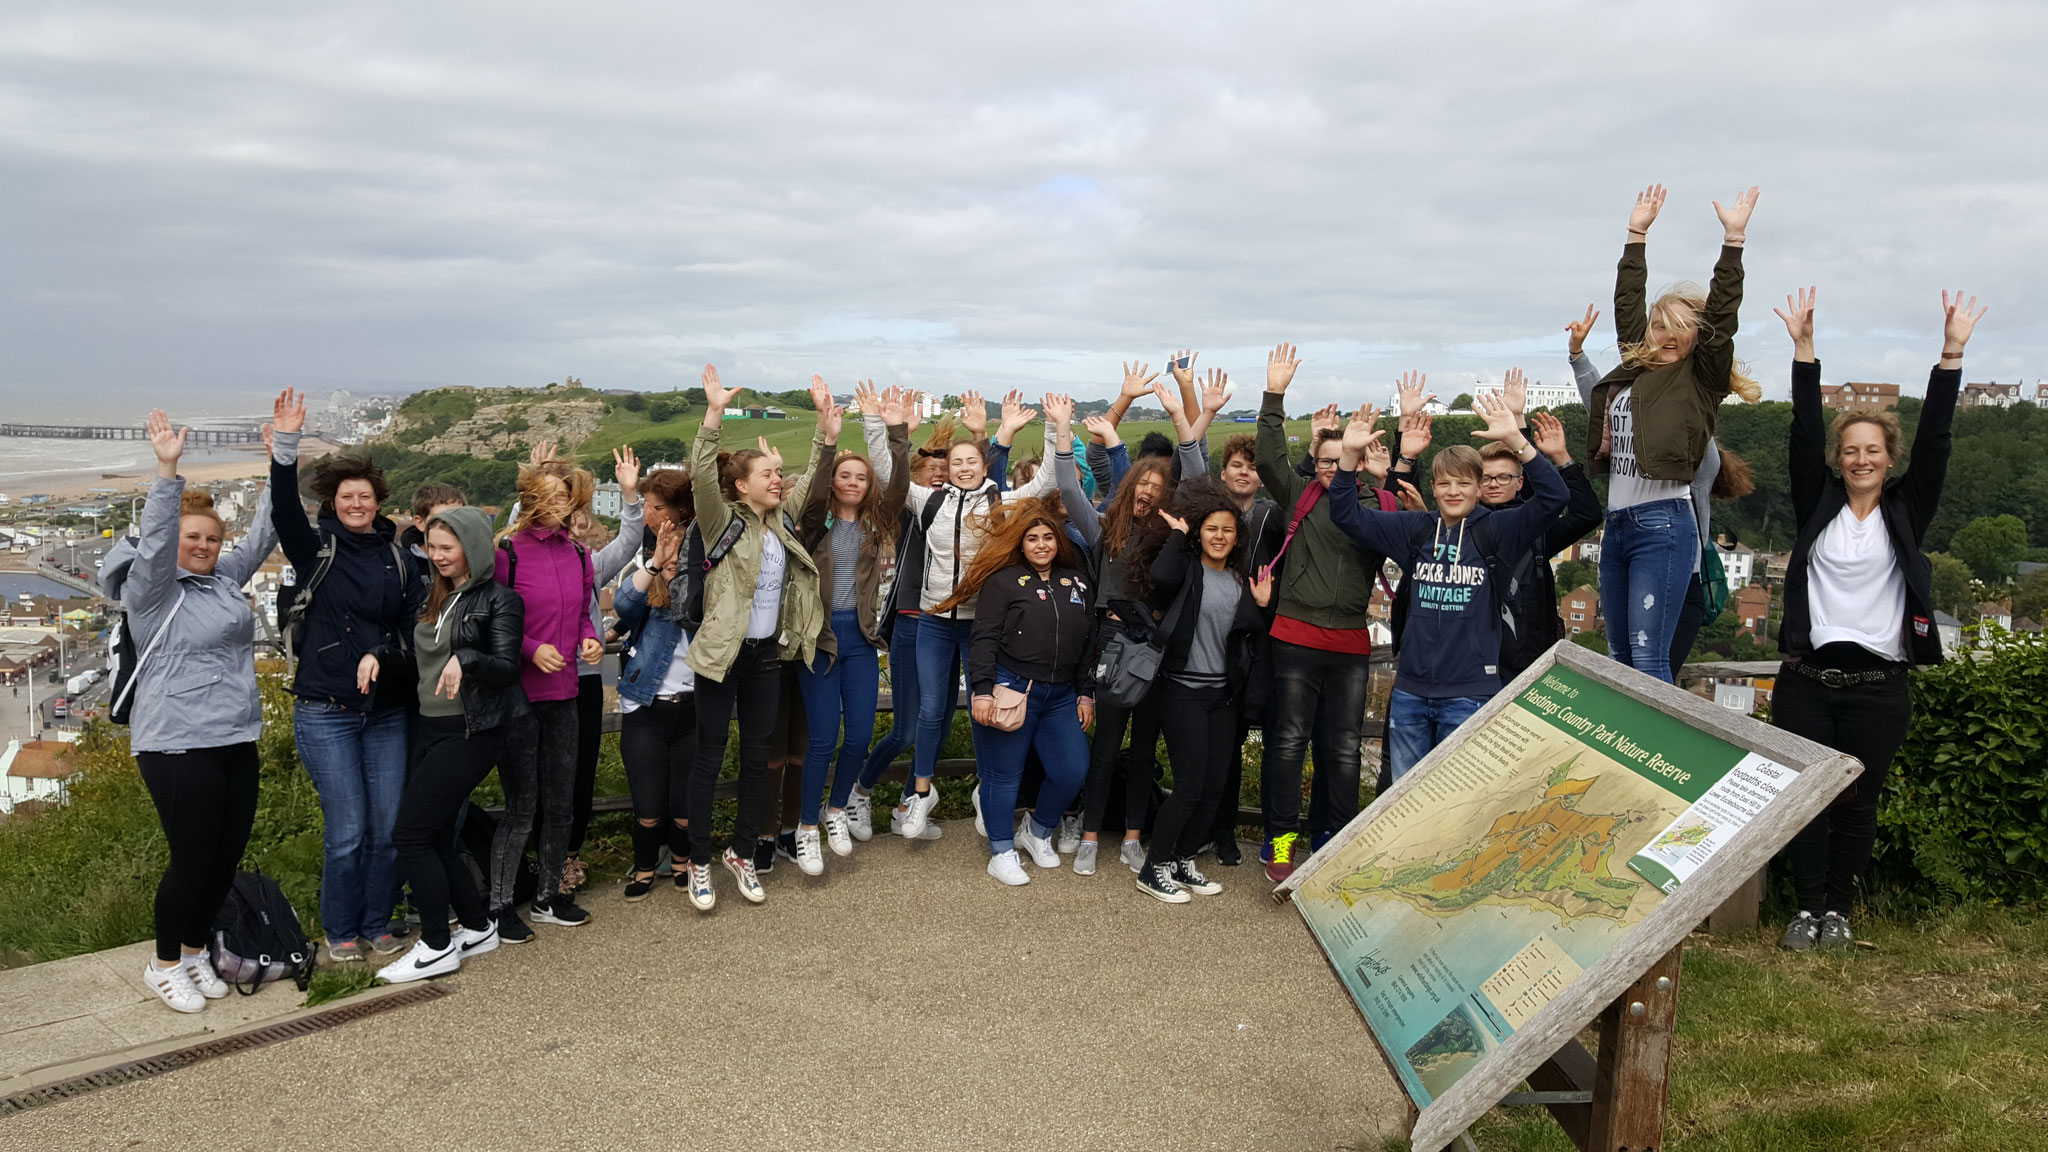
[{"label": "black bomber jacket on the girl carrying a small pink bag", "polygon": [[1061,564],[1044,576],[1030,564],[989,576],[975,599],[975,637],[967,648],[967,681],[975,695],[995,691],[997,668],[1090,695],[1094,607],[1087,576]]}]

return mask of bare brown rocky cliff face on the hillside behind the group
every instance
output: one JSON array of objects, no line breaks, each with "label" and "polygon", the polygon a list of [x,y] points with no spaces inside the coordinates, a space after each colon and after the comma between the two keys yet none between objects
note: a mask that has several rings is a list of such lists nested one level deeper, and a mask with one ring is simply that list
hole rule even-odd
[{"label": "bare brown rocky cliff face on the hillside behind the group", "polygon": [[399,404],[383,439],[434,455],[489,459],[539,441],[573,451],[598,430],[604,400],[582,387],[436,387]]}]

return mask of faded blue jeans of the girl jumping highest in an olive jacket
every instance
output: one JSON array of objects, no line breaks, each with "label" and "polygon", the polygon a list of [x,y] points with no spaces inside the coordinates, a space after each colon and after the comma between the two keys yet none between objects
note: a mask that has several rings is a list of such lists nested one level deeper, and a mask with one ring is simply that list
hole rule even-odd
[{"label": "faded blue jeans of the girl jumping highest in an olive jacket", "polygon": [[1599,537],[1599,615],[1608,656],[1636,672],[1671,681],[1671,635],[1700,560],[1692,500],[1651,500],[1608,512]]}]

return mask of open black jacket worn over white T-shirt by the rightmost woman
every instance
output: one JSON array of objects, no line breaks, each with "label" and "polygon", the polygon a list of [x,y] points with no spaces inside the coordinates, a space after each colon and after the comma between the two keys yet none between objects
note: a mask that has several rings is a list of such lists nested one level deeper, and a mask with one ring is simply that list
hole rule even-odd
[{"label": "open black jacket worn over white T-shirt by the rightmost woman", "polygon": [[[1942,502],[1942,482],[1948,478],[1950,430],[1956,422],[1956,392],[1962,369],[1935,367],[1927,375],[1927,404],[1921,406],[1919,428],[1913,430],[1913,455],[1907,469],[1884,482],[1878,512],[1892,537],[1892,553],[1907,582],[1905,629],[1907,658],[1913,664],[1939,664],[1942,637],[1933,627],[1933,564],[1921,551],[1927,525]],[[1849,504],[1849,490],[1827,465],[1827,420],[1821,412],[1821,363],[1792,361],[1792,512],[1798,539],[1792,543],[1792,564],[1786,568],[1786,615],[1778,625],[1778,650],[1788,658],[1812,654],[1812,605],[1808,603],[1806,570],[1821,531]]]}]

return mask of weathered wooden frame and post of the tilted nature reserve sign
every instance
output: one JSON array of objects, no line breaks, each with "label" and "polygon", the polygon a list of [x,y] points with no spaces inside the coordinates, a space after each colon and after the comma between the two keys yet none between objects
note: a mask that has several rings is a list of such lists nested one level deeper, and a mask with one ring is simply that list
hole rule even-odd
[{"label": "weathered wooden frame and post of the tilted nature reserve sign", "polygon": [[[1286,881],[1274,888],[1274,900],[1288,900],[1319,865],[1335,857],[1438,765],[1446,763],[1466,736],[1503,709],[1513,707],[1513,701],[1554,666],[1571,668],[1706,736],[1794,769],[1798,779],[1790,781],[1749,824],[1686,877],[1677,892],[1665,896],[1642,920],[1630,924],[1599,961],[1585,968],[1579,978],[1538,1009],[1499,1047],[1483,1056],[1442,1097],[1419,1111],[1409,1101],[1413,1119],[1409,1146],[1417,1152],[1438,1152],[1450,1146],[1473,1121],[1503,1101],[1550,1105],[1581,1148],[1612,1150],[1624,1144],[1628,1148],[1659,1148],[1667,1099],[1669,1031],[1677,1011],[1677,963],[1686,935],[1769,863],[1806,822],[1864,771],[1853,756],[1735,713],[1565,640],[1503,687],[1444,744],[1423,756],[1413,771],[1395,781],[1370,808],[1296,867]],[[1309,920],[1303,918],[1303,924],[1307,927]],[[1321,941],[1317,947],[1321,949]],[[1575,1037],[1604,1013],[1608,1019],[1602,1027],[1602,1058],[1595,1066]],[[1360,1019],[1366,1019],[1364,1011],[1360,1011]],[[1366,1031],[1393,1074],[1393,1058],[1370,1025]],[[1532,1078],[1532,1086],[1538,1091],[1528,1097],[1534,1099],[1509,1099],[1524,1080]]]}]

